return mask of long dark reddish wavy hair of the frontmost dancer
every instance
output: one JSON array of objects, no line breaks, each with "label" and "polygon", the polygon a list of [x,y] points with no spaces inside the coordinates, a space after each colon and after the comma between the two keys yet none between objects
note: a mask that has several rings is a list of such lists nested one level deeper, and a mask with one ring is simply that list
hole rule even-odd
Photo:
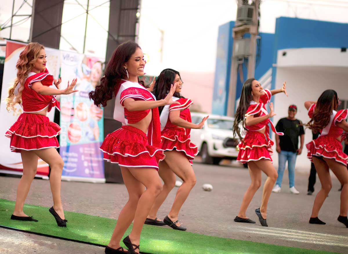
[{"label": "long dark reddish wavy hair of the frontmost dancer", "polygon": [[[89,98],[94,101],[97,106],[106,106],[106,102],[111,100],[112,96],[117,94],[119,90],[120,79],[127,77],[126,69],[123,65],[128,62],[137,48],[140,46],[134,41],[126,41],[120,44],[110,58],[108,66],[106,66],[104,76],[100,79],[100,85],[89,93]],[[141,48],[140,48],[141,49]],[[142,85],[143,82],[139,81]]]}]

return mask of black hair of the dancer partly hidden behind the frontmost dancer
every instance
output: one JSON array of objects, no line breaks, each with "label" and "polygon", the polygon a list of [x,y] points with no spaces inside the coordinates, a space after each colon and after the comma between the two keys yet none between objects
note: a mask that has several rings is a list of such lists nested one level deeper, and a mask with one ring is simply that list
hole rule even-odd
[{"label": "black hair of the dancer partly hidden behind the frontmost dancer", "polygon": [[[176,74],[178,74],[181,79],[179,71],[176,71],[173,69],[164,69],[163,71],[161,71],[161,73],[156,79],[155,86],[153,87],[153,92],[152,92],[156,96],[156,100],[162,100],[167,96],[167,94],[169,93],[169,90],[171,89],[171,85],[172,84],[174,85]],[[175,92],[173,96],[178,98],[183,98],[183,96],[177,92]],[[158,107],[158,111],[160,114],[163,108],[164,106]]]}]

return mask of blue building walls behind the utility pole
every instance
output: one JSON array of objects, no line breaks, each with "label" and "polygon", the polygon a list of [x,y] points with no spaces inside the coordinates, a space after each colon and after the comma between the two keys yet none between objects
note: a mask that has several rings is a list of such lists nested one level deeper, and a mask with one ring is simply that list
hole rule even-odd
[{"label": "blue building walls behind the utility pole", "polygon": [[[212,105],[214,114],[227,114],[233,26],[234,22],[231,21],[219,27]],[[259,56],[256,59],[255,78],[260,80],[271,68],[271,89],[276,87],[277,68],[273,64],[277,63],[278,50],[348,47],[348,24],[346,23],[280,17],[276,19],[275,34],[260,33],[259,35],[261,39],[259,39],[260,47],[257,52]],[[245,35],[245,37],[248,36],[248,34]],[[242,81],[247,78],[247,59],[243,63],[242,69],[243,78],[239,76],[239,71],[237,74],[236,101],[242,92]]]}]

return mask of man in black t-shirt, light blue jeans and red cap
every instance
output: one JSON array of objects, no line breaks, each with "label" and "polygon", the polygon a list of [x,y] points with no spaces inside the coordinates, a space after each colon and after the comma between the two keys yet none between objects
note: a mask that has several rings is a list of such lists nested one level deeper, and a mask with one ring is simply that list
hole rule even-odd
[{"label": "man in black t-shirt, light blue jeans and red cap", "polygon": [[[288,117],[280,119],[276,125],[277,132],[283,132],[284,136],[276,135],[279,166],[278,178],[275,187],[272,189],[273,192],[280,192],[280,187],[282,186],[283,174],[285,170],[285,163],[287,161],[290,191],[294,194],[300,193],[295,189],[295,164],[297,155],[301,154],[302,152],[304,130],[302,122],[295,118],[296,113],[296,105],[290,105],[288,109]],[[300,148],[299,136],[301,138]]]}]

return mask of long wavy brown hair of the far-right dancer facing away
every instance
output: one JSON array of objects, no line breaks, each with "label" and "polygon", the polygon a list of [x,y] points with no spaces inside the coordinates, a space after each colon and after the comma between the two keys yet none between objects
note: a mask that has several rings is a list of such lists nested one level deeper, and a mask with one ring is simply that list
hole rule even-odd
[{"label": "long wavy brown hair of the far-right dancer facing away", "polygon": [[[333,102],[333,103],[332,103]],[[317,101],[312,119],[308,122],[314,133],[324,129],[330,122],[332,110],[338,107],[338,96],[335,90],[325,90]]]}]

